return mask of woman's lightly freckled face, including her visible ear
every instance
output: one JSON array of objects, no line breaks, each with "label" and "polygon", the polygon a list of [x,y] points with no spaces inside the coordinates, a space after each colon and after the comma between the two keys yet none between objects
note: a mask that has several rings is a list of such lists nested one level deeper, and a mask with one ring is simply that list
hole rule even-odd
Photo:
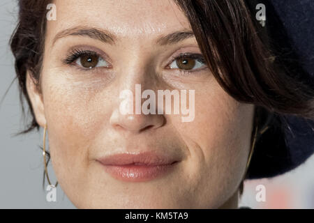
[{"label": "woman's lightly freckled face, including her visible ear", "polygon": [[[38,124],[47,123],[59,185],[75,206],[236,208],[253,105],[227,95],[200,57],[176,59],[201,54],[179,6],[167,0],[54,3],[42,91],[29,77],[27,90]],[[184,33],[168,36],[176,32]],[[195,98],[187,94],[179,103],[194,105],[193,118],[124,114],[121,104],[130,98],[120,93],[130,90],[135,107],[135,84],[154,91],[156,101],[158,90],[194,90]],[[177,107],[174,100],[170,107]],[[149,108],[163,111],[159,104]]]}]

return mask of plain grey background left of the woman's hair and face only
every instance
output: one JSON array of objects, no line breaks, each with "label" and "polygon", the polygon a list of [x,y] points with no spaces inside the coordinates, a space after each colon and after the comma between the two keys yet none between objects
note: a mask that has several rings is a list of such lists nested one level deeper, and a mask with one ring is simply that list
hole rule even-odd
[{"label": "plain grey background left of the woman's hair and face only", "polygon": [[[13,55],[8,41],[17,21],[17,1],[0,3],[0,98],[15,77]],[[0,208],[75,208],[57,187],[57,202],[47,202],[43,189],[43,130],[19,137],[24,129],[17,80],[0,105]],[[49,168],[52,183],[53,169]]]}]

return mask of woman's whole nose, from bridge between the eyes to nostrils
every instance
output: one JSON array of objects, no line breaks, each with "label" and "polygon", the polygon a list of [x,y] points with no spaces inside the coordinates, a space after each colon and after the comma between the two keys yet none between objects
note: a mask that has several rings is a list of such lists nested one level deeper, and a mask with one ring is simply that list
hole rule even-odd
[{"label": "woman's whole nose, from bridge between the eyes to nostrils", "polygon": [[[112,109],[110,125],[118,131],[139,133],[161,127],[165,123],[165,116],[157,114],[157,112],[156,114],[144,114],[142,112],[142,102],[147,100],[142,98],[142,92],[148,89],[154,91],[157,79],[154,75],[154,67],[149,65],[149,59],[145,58],[144,54],[133,52],[131,57],[125,61],[124,69],[119,72],[117,83],[119,84],[120,96],[127,96],[119,98],[117,107]],[[128,110],[128,114],[121,112],[123,103],[132,108]]]}]

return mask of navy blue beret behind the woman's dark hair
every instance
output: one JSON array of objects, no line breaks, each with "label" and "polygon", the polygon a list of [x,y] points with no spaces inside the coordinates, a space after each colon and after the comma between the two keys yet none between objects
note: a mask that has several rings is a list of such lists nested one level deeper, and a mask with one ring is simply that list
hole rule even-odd
[{"label": "navy blue beret behind the woman's dark hair", "polygon": [[[264,3],[266,21],[261,29],[267,30],[273,47],[285,56],[283,61],[291,61],[300,78],[314,86],[314,1],[246,0],[246,3],[254,20],[257,3]],[[273,128],[262,135],[255,147],[246,178],[284,174],[314,153],[313,120],[274,114],[269,125]],[[271,140],[274,143],[269,143]]]}]

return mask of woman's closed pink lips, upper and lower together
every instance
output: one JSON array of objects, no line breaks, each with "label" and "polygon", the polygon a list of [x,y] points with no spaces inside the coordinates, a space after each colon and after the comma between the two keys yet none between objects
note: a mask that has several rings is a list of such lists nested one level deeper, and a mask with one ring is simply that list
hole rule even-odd
[{"label": "woman's closed pink lips, upper and lower together", "polygon": [[119,153],[98,160],[105,171],[118,180],[142,182],[171,171],[178,160],[152,152]]}]

